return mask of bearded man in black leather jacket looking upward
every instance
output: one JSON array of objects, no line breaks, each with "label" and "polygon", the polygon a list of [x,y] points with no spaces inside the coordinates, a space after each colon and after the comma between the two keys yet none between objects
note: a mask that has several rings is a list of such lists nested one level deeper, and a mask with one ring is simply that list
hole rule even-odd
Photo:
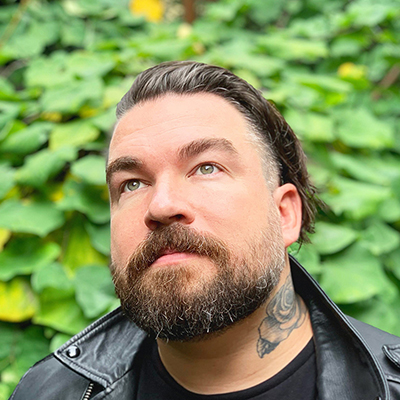
[{"label": "bearded man in black leather jacket looking upward", "polygon": [[225,69],[144,71],[107,182],[120,309],[12,399],[400,399],[400,339],[347,319],[286,252],[316,200],[279,112]]}]

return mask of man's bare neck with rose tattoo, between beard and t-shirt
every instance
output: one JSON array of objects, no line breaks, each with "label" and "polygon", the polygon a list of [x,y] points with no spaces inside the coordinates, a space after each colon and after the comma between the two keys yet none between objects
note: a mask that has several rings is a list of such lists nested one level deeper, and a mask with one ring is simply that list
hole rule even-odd
[{"label": "man's bare neck with rose tattoo, between beard and t-shirt", "polygon": [[192,342],[158,340],[171,376],[200,394],[255,386],[282,370],[312,337],[307,308],[293,288],[289,264],[265,305],[222,334]]}]

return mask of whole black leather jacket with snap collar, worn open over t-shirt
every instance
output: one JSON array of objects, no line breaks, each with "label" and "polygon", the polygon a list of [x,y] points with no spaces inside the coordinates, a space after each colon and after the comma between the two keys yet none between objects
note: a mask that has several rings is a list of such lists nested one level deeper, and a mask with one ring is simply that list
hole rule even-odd
[{"label": "whole black leather jacket with snap collar, worn open over t-shirt", "polygon": [[[347,318],[291,258],[311,315],[319,400],[400,400],[400,338]],[[74,336],[21,379],[12,400],[134,400],[153,339],[120,309]]]}]

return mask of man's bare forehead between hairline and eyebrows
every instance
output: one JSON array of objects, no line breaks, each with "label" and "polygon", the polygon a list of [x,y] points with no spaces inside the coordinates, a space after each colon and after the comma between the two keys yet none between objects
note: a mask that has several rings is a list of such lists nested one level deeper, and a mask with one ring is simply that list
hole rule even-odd
[{"label": "man's bare forehead between hairline and eyebrows", "polygon": [[207,137],[225,138],[240,147],[249,141],[248,129],[243,115],[220,96],[166,94],[134,106],[121,118],[110,143],[110,161],[133,144],[177,148]]}]

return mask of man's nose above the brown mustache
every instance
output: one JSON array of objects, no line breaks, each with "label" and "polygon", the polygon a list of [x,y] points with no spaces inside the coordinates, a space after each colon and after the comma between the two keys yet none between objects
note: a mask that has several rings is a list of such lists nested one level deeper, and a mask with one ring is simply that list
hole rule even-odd
[{"label": "man's nose above the brown mustache", "polygon": [[145,214],[145,224],[155,230],[174,222],[190,224],[194,221],[193,207],[182,186],[164,182],[153,186],[153,195]]}]

